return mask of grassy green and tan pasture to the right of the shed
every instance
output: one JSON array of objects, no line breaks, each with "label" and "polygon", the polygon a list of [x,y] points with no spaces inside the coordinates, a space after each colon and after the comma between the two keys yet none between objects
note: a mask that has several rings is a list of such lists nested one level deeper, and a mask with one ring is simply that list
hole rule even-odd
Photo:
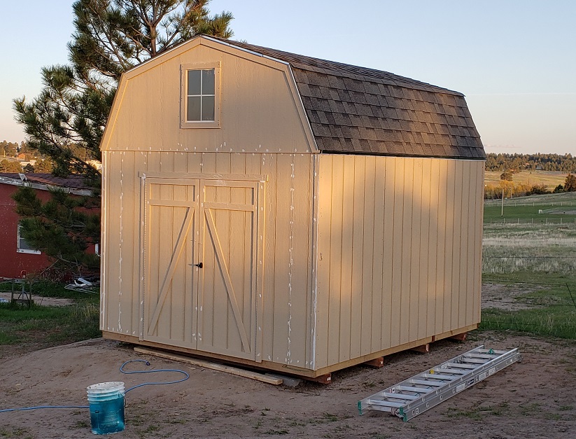
[{"label": "grassy green and tan pasture to the right of the shed", "polygon": [[512,201],[517,205],[504,207],[506,223],[500,207],[484,209],[483,282],[531,288],[513,296],[522,309],[484,309],[481,328],[576,339],[576,216],[538,214],[550,204],[576,205],[576,194]]}]

